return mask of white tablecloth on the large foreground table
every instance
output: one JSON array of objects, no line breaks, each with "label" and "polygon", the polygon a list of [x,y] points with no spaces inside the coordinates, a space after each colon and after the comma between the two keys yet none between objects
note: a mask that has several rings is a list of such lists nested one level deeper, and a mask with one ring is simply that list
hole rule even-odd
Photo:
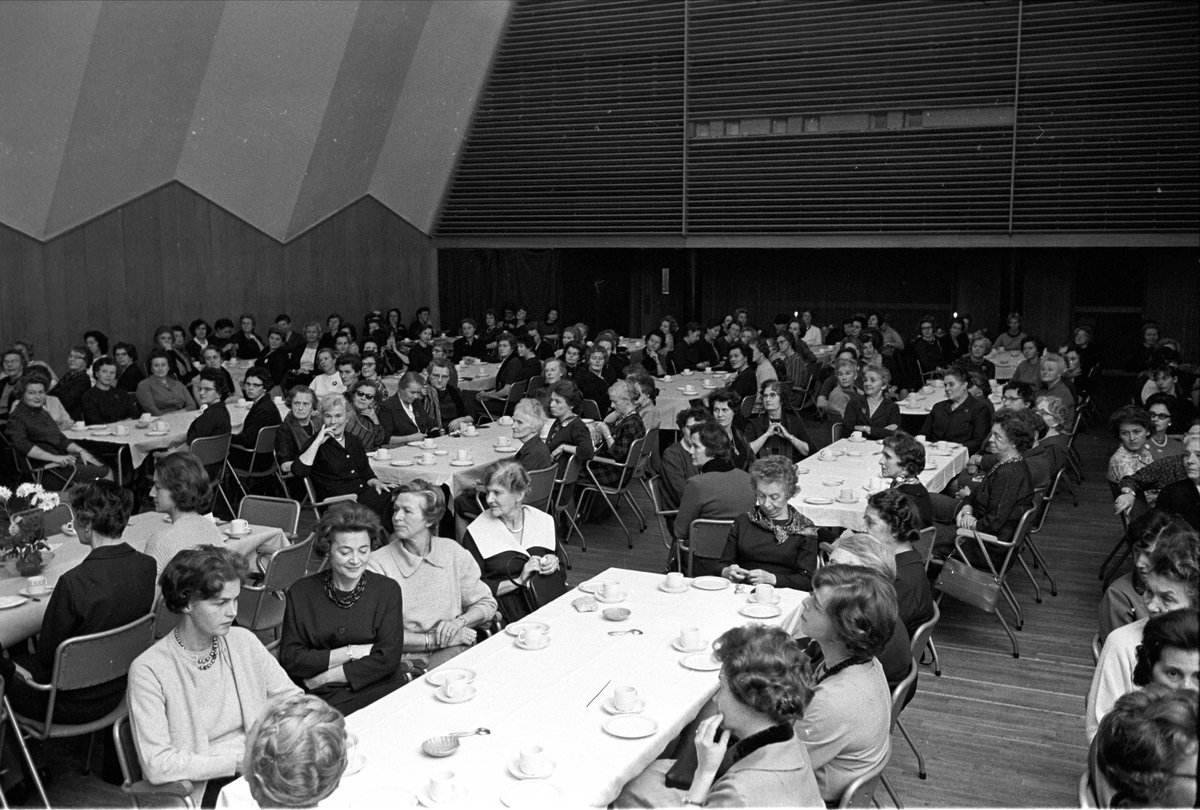
[{"label": "white tablecloth on the large foreground table", "polygon": [[[467,650],[446,666],[475,671],[478,695],[445,704],[424,679],[408,684],[347,719],[366,756],[361,772],[342,780],[320,806],[370,806],[373,791],[400,788],[416,794],[433,773],[450,770],[467,787],[462,806],[502,806],[499,797],[517,785],[506,766],[526,745],[541,745],[557,766],[547,781],[562,790],[560,808],[606,806],[640,774],[716,691],[718,673],[680,666],[683,653],[671,647],[683,626],[698,626],[712,641],[750,619],[738,613],[745,594],[690,588],[682,594],[658,589],[661,575],[608,569],[599,578],[620,580],[630,588],[624,607],[632,616],[620,623],[599,612],[577,613],[568,593],[530,618],[550,625],[551,643],[530,652],[500,634]],[[794,631],[804,593],[776,589],[782,614],[769,619]],[[601,605],[604,607],[604,605]],[[610,630],[638,628],[642,636],[610,636]],[[616,686],[630,685],[646,701],[643,716],[659,725],[643,739],[611,737],[601,725],[601,708]],[[488,737],[461,740],[457,754],[443,760],[420,752],[427,737],[450,731],[491,728]],[[217,806],[253,806],[239,779],[221,792]]]}]

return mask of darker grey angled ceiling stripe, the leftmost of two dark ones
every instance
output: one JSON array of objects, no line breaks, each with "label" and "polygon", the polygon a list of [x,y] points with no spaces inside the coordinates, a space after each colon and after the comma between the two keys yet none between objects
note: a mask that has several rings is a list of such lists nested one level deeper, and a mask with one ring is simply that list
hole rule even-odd
[{"label": "darker grey angled ceiling stripe, the leftmost of two dark ones", "polygon": [[174,176],[223,5],[103,4],[46,236]]}]

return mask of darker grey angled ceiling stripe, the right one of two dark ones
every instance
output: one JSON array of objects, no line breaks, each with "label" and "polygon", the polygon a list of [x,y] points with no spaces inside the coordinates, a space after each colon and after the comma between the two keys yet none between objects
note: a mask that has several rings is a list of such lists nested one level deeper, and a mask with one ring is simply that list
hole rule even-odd
[{"label": "darker grey angled ceiling stripe, the right one of two dark ones", "polygon": [[432,0],[364,0],[287,238],[367,193]]}]

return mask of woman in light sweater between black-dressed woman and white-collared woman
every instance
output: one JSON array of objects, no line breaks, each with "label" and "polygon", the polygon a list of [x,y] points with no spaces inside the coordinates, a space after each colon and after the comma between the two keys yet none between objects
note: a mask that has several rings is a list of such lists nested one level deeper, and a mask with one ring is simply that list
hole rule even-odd
[{"label": "woman in light sweater between black-dressed woman and white-collared woman", "polygon": [[404,659],[427,668],[475,643],[475,628],[496,616],[496,598],[480,581],[475,559],[454,540],[433,536],[442,521],[442,488],[415,479],[396,490],[396,532],[371,552],[370,570],[400,583],[404,612]]}]

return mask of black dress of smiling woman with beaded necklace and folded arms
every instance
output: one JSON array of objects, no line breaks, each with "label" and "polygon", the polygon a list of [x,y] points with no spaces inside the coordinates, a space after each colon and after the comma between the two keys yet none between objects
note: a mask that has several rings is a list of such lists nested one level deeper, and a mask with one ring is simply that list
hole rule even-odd
[{"label": "black dress of smiling woman with beaded necklace and folded arms", "polygon": [[[404,648],[403,598],[400,584],[364,571],[358,601],[341,608],[325,594],[325,572],[295,582],[288,589],[280,640],[280,664],[304,688],[329,668],[329,652],[347,644],[371,644],[371,654],[342,665],[349,683],[311,690],[343,714],[358,712],[407,683],[400,671]],[[348,593],[335,590],[338,598]],[[306,690],[310,691],[310,690]]]}]

